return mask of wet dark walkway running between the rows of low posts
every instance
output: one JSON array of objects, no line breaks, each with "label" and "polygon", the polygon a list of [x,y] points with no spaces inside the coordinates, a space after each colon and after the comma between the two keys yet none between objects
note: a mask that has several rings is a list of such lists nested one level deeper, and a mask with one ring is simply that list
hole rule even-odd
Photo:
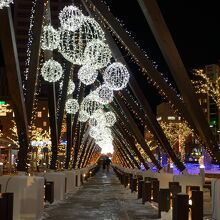
[{"label": "wet dark walkway running between the rows of low posts", "polygon": [[101,170],[66,200],[46,208],[44,216],[45,220],[150,220],[156,218],[157,209],[142,205],[113,171]]}]

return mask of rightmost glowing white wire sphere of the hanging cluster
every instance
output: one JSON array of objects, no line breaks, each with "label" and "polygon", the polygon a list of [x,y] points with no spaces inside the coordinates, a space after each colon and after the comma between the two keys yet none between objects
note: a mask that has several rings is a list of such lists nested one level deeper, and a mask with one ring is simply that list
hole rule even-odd
[{"label": "rightmost glowing white wire sphere of the hanging cluster", "polygon": [[103,74],[105,84],[110,89],[117,91],[126,87],[129,77],[126,66],[119,62],[109,65]]}]

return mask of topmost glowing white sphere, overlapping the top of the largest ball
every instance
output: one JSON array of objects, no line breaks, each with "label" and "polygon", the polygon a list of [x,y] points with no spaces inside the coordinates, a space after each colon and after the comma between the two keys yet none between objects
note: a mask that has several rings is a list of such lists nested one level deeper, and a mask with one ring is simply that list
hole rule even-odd
[{"label": "topmost glowing white sphere, overlapping the top of the largest ball", "polygon": [[83,17],[82,12],[73,5],[64,7],[59,13],[61,27],[69,31],[78,29],[83,22]]}]

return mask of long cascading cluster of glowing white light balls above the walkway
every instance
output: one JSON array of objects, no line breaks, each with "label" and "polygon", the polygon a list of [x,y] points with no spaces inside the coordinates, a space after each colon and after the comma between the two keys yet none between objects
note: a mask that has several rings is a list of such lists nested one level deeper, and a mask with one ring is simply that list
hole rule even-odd
[{"label": "long cascading cluster of glowing white light balls above the walkway", "polygon": [[[111,50],[105,43],[104,31],[95,19],[83,15],[81,10],[71,5],[63,8],[59,20],[61,26],[58,30],[50,25],[44,27],[42,49],[58,49],[66,60],[74,65],[80,65],[77,76],[81,83],[93,84],[99,72],[102,73],[104,81],[83,99],[80,106],[77,100],[68,99],[65,105],[66,112],[75,114],[79,111],[78,120],[89,121],[90,135],[95,138],[96,143],[112,145],[110,127],[116,122],[116,117],[113,112],[104,112],[103,107],[113,101],[114,91],[126,87],[129,72],[120,62],[111,64]],[[47,68],[46,71],[44,75],[50,76],[50,82],[53,76],[54,82],[58,80],[54,69]],[[48,77],[44,79],[48,81]],[[69,81],[69,95],[74,91],[73,87],[75,85],[73,86],[73,82]]]}]

